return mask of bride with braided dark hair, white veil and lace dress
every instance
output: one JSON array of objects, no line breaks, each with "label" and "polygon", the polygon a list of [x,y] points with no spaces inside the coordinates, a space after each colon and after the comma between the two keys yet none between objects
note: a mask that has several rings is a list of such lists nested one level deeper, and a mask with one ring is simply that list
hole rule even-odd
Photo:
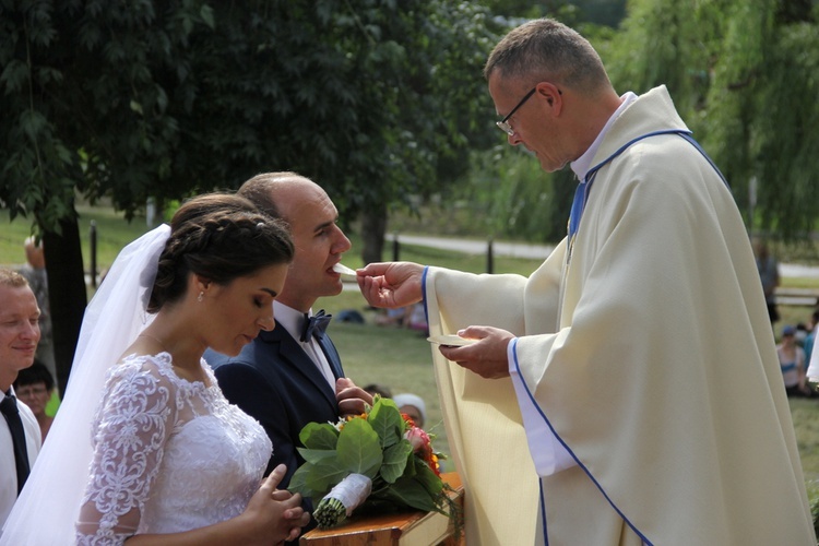
[{"label": "bride with braided dark hair, white veil and lace dress", "polygon": [[126,247],[86,309],[66,399],[0,544],[296,538],[309,513],[276,489],[283,465],[263,479],[266,434],[202,360],[274,327],[292,259],[282,224],[222,193]]}]

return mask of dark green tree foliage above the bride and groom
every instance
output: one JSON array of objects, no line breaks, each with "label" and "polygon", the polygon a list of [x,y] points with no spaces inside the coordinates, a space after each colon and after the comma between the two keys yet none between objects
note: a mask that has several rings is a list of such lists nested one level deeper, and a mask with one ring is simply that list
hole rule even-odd
[{"label": "dark green tree foliage above the bride and groom", "polygon": [[[0,206],[75,238],[76,194],[132,217],[296,170],[383,216],[483,145],[489,26],[446,0],[0,0]],[[81,277],[70,248],[47,261]]]}]

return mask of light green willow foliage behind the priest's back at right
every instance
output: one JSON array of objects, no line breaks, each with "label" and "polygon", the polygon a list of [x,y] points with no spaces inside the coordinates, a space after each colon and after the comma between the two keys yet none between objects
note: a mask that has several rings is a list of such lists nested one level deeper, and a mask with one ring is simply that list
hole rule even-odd
[{"label": "light green willow foliage behind the priest's back at right", "polygon": [[793,239],[816,227],[819,27],[806,0],[633,0],[609,64],[621,88],[666,84],[745,203],[748,225]]}]

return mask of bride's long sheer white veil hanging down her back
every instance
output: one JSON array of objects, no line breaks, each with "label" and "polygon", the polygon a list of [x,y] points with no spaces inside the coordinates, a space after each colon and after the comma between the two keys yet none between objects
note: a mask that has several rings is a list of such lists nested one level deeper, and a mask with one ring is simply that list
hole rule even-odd
[{"label": "bride's long sheer white veil hanging down her back", "polygon": [[0,545],[73,544],[105,376],[153,320],[145,308],[169,234],[162,225],[122,249],[88,304],[66,395]]}]

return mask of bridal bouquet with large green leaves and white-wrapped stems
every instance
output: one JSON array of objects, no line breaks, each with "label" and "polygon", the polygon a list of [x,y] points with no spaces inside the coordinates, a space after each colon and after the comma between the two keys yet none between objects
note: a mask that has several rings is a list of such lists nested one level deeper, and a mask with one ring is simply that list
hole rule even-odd
[{"label": "bridal bouquet with large green leaves and white-wrapped stems", "polygon": [[460,517],[441,480],[431,438],[402,414],[395,402],[376,396],[361,415],[332,423],[309,423],[299,439],[305,459],[289,490],[313,500],[319,529],[342,523],[359,506],[377,510],[412,508]]}]

